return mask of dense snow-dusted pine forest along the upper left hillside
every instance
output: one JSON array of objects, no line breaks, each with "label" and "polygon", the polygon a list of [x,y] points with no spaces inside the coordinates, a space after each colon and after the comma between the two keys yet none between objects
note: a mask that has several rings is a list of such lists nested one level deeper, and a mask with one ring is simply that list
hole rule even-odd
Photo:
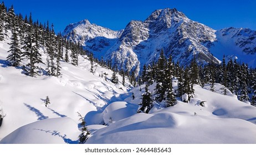
[{"label": "dense snow-dusted pine forest along the upper left hillside", "polygon": [[[21,67],[23,73],[34,77],[38,74],[59,76],[60,61],[78,65],[78,55],[88,54],[81,44],[70,42],[60,33],[55,34],[54,25],[33,21],[32,14],[23,18],[22,14],[16,15],[11,6],[8,10],[4,2],[0,4],[0,40],[3,41],[11,33],[11,43],[7,60],[10,66]],[[43,50],[47,55],[42,61]],[[28,60],[27,64],[22,60]],[[46,68],[40,68],[39,63]]]}]

